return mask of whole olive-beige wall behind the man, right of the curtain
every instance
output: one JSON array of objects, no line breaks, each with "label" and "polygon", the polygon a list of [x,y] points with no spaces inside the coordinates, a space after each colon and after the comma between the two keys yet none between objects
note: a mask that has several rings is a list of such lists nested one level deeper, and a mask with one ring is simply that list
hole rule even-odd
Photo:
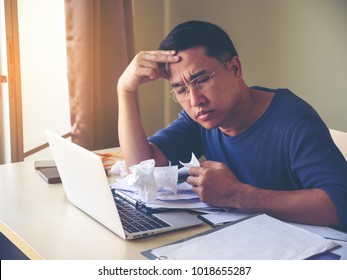
[{"label": "whole olive-beige wall behind the man, right of the curtain", "polygon": [[[140,2],[144,2],[141,9]],[[134,3],[135,19],[141,18],[135,22],[137,50],[156,48],[164,37],[163,31],[166,34],[182,21],[211,21],[230,34],[248,85],[290,88],[311,103],[329,127],[347,131],[347,1],[134,0]],[[151,88],[152,94],[155,90],[160,94],[167,91],[164,84],[160,86]],[[169,120],[176,116],[179,108],[148,94],[144,94],[146,100],[142,99],[144,104],[140,103],[140,108],[143,117],[151,119],[145,121],[150,123],[150,127],[145,126],[150,134],[167,123],[165,117]],[[162,108],[164,115],[160,115]]]}]

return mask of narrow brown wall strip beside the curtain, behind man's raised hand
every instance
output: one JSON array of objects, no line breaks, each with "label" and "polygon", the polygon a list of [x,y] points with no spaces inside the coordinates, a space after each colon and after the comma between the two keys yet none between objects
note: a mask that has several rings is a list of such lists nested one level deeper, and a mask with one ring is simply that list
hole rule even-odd
[{"label": "narrow brown wall strip beside the curtain, behind man's raised hand", "polygon": [[[133,0],[135,52],[156,50],[170,31],[170,0]],[[152,135],[177,117],[180,106],[169,98],[169,83],[156,81],[139,89],[139,106],[146,134]]]}]

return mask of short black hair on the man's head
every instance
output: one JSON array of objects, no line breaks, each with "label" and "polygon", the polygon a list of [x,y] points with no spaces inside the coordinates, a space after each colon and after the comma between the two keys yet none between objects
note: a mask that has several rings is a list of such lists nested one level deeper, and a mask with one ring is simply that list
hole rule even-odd
[{"label": "short black hair on the man's head", "polygon": [[177,25],[160,43],[159,50],[177,52],[203,47],[206,55],[224,62],[237,56],[229,35],[219,26],[204,21],[187,21]]}]

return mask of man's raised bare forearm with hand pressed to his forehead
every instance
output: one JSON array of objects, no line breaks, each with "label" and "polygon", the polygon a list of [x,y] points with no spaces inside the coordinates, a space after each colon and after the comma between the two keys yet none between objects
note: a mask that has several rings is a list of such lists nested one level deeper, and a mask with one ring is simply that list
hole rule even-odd
[{"label": "man's raised bare forearm with hand pressed to his forehead", "polygon": [[118,92],[118,135],[126,165],[129,167],[146,159],[166,165],[164,154],[147,141],[137,106],[136,92],[141,84],[167,78],[158,63],[174,63],[179,58],[174,51],[147,51],[135,56],[120,77]]}]

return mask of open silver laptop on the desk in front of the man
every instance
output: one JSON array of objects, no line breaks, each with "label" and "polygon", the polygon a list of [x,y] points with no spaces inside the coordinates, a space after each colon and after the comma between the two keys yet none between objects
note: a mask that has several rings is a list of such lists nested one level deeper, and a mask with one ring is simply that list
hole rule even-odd
[{"label": "open silver laptop on the desk in front of the man", "polygon": [[48,130],[53,158],[70,203],[123,239],[168,232],[203,222],[185,211],[146,213],[112,192],[100,157]]}]

